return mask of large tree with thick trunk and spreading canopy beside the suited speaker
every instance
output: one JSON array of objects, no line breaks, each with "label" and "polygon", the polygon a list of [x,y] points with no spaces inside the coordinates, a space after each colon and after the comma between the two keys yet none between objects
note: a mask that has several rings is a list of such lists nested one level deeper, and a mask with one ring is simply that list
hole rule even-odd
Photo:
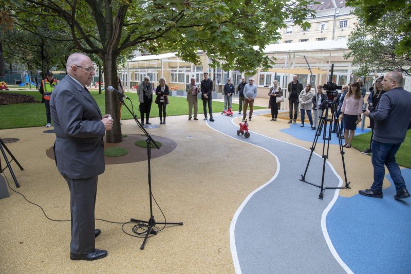
[{"label": "large tree with thick trunk and spreading canopy beside the suited speaker", "polygon": [[[24,0],[18,13],[31,20],[64,22],[76,47],[103,61],[106,85],[117,85],[116,60],[125,50],[177,52],[198,63],[197,50],[207,52],[213,65],[242,71],[272,63],[263,49],[280,38],[279,28],[291,18],[307,27],[314,16],[312,0]],[[51,18],[50,18],[51,17]],[[57,24],[61,25],[61,24]],[[221,61],[222,62],[221,62]],[[105,93],[106,113],[115,119],[108,142],[121,141],[119,101]]]}]

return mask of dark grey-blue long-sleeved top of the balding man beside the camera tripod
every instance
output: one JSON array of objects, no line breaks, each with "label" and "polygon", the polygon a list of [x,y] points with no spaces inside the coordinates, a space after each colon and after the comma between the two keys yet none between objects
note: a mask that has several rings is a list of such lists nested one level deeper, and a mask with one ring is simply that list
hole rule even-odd
[{"label": "dark grey-blue long-sleeved top of the balding man beside the camera tripod", "polygon": [[389,90],[381,96],[375,112],[372,140],[382,143],[402,143],[411,119],[411,93],[402,87]]}]

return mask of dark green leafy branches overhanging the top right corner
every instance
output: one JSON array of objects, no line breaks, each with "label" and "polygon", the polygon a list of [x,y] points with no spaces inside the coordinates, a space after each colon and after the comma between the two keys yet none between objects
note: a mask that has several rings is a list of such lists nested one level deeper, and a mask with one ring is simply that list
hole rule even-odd
[{"label": "dark green leafy branches overhanging the top right corner", "polygon": [[[387,13],[399,14],[401,21],[393,34],[399,38],[395,45],[398,56],[411,54],[411,1],[409,0],[347,0],[347,6],[356,9],[356,14],[365,26],[380,24],[381,17]],[[394,17],[393,17],[394,18]]]}]

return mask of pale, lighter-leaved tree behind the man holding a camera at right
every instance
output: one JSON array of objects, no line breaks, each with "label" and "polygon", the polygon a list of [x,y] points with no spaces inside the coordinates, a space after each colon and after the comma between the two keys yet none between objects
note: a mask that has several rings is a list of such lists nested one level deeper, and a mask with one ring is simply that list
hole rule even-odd
[{"label": "pale, lighter-leaved tree behind the man holding a camera at right", "polygon": [[403,35],[397,34],[397,30],[404,20],[405,12],[387,12],[375,25],[366,25],[360,20],[348,38],[347,45],[351,51],[344,56],[346,59],[353,58],[352,65],[359,66],[359,75],[389,70],[399,70],[411,75],[410,54],[395,53],[403,39]]}]

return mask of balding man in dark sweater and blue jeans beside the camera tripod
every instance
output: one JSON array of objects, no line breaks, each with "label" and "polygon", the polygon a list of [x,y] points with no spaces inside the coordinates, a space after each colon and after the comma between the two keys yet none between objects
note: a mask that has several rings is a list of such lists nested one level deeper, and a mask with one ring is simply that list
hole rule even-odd
[{"label": "balding man in dark sweater and blue jeans beside the camera tripod", "polygon": [[382,82],[386,93],[381,96],[375,112],[365,110],[365,115],[374,120],[371,162],[374,168],[374,181],[370,189],[358,191],[361,195],[382,198],[382,183],[387,166],[394,181],[397,194],[395,199],[409,197],[400,167],[395,155],[405,139],[411,119],[411,93],[402,88],[401,72],[388,72]]}]

